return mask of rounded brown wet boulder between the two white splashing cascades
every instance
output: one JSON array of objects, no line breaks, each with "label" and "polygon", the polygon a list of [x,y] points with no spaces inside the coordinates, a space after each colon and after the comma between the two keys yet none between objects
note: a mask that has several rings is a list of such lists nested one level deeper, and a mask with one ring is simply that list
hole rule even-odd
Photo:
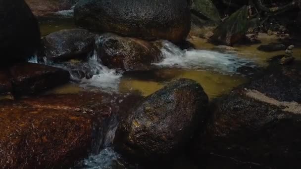
[{"label": "rounded brown wet boulder between the two white splashing cascades", "polygon": [[98,56],[109,68],[148,70],[151,63],[161,59],[159,48],[147,41],[106,33],[100,36],[98,42]]}]

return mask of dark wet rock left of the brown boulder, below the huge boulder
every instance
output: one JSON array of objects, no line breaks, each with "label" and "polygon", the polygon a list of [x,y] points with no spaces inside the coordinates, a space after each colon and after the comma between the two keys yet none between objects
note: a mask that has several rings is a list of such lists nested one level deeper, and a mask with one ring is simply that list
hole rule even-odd
[{"label": "dark wet rock left of the brown boulder, below the huge boulder", "polygon": [[45,56],[53,61],[87,58],[94,50],[95,35],[85,29],[61,30],[43,37]]}]

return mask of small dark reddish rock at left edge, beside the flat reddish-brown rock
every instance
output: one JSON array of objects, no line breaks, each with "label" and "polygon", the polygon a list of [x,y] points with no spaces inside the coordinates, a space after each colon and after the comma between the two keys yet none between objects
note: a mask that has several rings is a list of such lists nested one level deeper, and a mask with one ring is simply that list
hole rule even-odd
[{"label": "small dark reddish rock at left edge, beside the flat reddish-brown rock", "polygon": [[7,71],[0,70],[0,101],[13,99],[11,81]]}]

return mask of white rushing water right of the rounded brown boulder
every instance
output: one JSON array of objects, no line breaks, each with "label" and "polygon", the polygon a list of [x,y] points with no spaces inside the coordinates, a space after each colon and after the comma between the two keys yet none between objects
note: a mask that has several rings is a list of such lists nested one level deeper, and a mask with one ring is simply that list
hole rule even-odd
[{"label": "white rushing water right of the rounded brown boulder", "polygon": [[242,59],[233,54],[209,50],[181,50],[175,44],[164,41],[161,52],[163,61],[154,65],[186,69],[213,70],[222,74],[236,73],[241,66],[254,66],[251,60]]}]

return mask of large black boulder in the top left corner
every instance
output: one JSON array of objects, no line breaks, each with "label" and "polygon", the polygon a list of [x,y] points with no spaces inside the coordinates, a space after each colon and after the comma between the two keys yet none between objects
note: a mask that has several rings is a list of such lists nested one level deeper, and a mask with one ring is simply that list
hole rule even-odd
[{"label": "large black boulder in the top left corner", "polygon": [[0,0],[0,65],[33,56],[40,45],[38,22],[24,0]]}]

